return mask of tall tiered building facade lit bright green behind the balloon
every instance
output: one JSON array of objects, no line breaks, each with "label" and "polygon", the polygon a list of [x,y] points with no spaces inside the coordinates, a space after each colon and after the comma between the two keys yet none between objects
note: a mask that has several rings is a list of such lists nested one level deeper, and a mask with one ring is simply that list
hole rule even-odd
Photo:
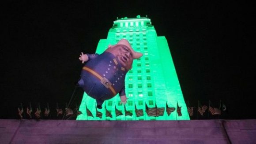
[{"label": "tall tiered building facade lit bright green behind the balloon", "polygon": [[[137,18],[120,18],[114,21],[107,39],[99,41],[96,53],[101,54],[109,44],[116,44],[122,38],[127,39],[136,52],[143,53],[140,59],[133,61],[132,69],[125,77],[125,92],[128,98],[125,107],[132,116],[124,116],[124,105],[120,104],[120,97],[117,95],[106,100],[102,109],[97,109],[102,112],[102,118],[96,117],[96,101],[84,93],[79,108],[83,114],[79,115],[77,120],[188,120],[187,106],[166,38],[157,36],[151,20],[147,17],[138,15]],[[176,110],[168,116],[166,102],[168,107],[174,107],[176,110],[178,103],[182,116],[178,116]],[[164,107],[163,116],[148,116],[145,103],[148,107]],[[115,105],[123,115],[116,116]],[[136,117],[135,105],[137,109],[143,110],[143,116]],[[88,116],[90,114],[87,114],[86,107],[94,117]],[[106,116],[105,107],[111,112],[112,118]]]}]

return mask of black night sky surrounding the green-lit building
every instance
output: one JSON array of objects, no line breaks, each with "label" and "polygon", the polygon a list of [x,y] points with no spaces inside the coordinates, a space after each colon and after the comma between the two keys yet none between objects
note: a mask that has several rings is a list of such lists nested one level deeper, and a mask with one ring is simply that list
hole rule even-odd
[{"label": "black night sky surrounding the green-lit building", "polygon": [[[81,52],[94,53],[118,18],[151,18],[165,36],[185,102],[227,107],[221,119],[255,119],[253,5],[205,1],[29,3],[12,0],[3,13],[0,118],[17,108],[64,108],[82,68]],[[77,89],[72,107],[80,104]],[[192,118],[193,119],[193,118]],[[205,117],[204,117],[205,119]]]}]

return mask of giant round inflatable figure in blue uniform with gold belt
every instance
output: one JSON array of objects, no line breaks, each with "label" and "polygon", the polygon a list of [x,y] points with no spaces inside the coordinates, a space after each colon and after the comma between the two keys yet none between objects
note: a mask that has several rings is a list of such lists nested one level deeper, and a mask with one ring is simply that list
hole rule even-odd
[{"label": "giant round inflatable figure in blue uniform with gold belt", "polygon": [[121,39],[102,54],[83,54],[79,60],[85,63],[81,71],[78,85],[88,96],[94,98],[97,107],[119,93],[122,103],[126,103],[124,79],[132,67],[133,59],[138,59],[142,53],[135,52],[126,39]]}]

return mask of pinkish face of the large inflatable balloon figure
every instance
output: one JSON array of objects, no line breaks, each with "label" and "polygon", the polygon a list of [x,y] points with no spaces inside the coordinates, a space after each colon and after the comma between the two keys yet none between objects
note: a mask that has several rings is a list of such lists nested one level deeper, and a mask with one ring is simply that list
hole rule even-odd
[{"label": "pinkish face of the large inflatable balloon figure", "polygon": [[115,55],[122,66],[127,70],[131,69],[133,56],[131,50],[127,46],[123,44],[114,45],[113,47],[109,47],[106,52],[110,52]]}]

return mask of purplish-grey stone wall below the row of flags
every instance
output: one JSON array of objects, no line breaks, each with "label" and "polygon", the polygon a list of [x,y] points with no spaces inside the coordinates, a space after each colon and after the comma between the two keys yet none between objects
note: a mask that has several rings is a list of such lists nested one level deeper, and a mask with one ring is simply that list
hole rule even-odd
[{"label": "purplish-grey stone wall below the row of flags", "polygon": [[0,144],[253,144],[256,120],[0,120]]}]

